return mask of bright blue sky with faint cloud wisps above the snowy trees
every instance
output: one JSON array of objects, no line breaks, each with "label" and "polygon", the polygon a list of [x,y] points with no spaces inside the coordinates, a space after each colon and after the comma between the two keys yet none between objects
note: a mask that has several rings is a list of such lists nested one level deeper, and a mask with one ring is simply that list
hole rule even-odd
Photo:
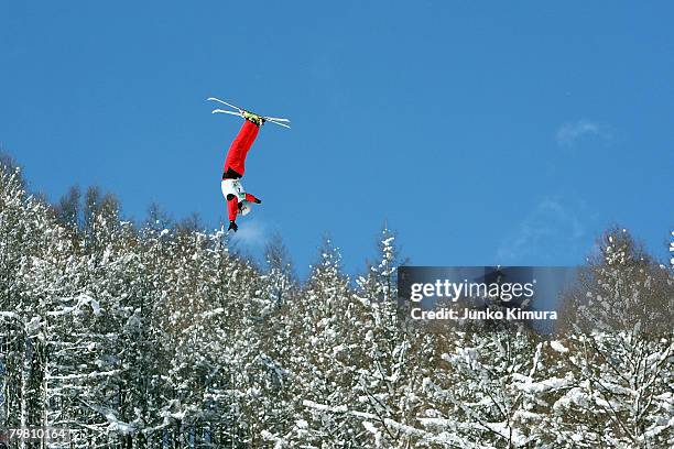
[{"label": "bright blue sky with faint cloud wisps above the snowy trees", "polygon": [[674,228],[671,2],[3,2],[0,143],[34,189],[225,219],[240,123],[265,125],[238,239],[324,232],[356,272],[383,220],[423,265],[576,264],[612,223]]}]

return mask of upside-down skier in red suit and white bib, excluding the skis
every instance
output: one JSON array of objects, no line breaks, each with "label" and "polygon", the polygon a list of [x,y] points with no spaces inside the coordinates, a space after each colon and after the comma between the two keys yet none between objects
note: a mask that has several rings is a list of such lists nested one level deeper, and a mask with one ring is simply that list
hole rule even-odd
[{"label": "upside-down skier in red suit and white bib, excluding the skis", "polygon": [[237,231],[239,227],[236,223],[237,215],[247,215],[250,212],[251,204],[262,202],[259,198],[247,193],[241,185],[240,178],[246,172],[246,156],[252,146],[260,127],[264,124],[265,119],[252,112],[241,111],[243,117],[243,125],[239,134],[231,143],[225,160],[225,168],[222,169],[222,195],[227,200],[227,212],[229,215],[228,231]]}]

